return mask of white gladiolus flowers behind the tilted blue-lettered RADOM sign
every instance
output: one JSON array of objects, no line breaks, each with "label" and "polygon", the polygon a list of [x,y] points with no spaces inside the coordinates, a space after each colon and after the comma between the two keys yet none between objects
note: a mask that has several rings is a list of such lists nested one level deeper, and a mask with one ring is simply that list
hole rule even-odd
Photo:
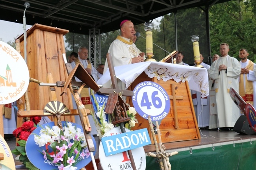
[{"label": "white gladiolus flowers behind the tilted blue-lettered RADOM sign", "polygon": [[[91,94],[94,94],[93,91],[91,91]],[[102,107],[99,106],[95,95],[92,95],[93,97],[93,101],[95,102],[96,108],[97,108],[97,112],[96,114],[92,114],[93,115],[93,120],[95,122],[96,125],[96,130],[98,132],[97,136],[99,138],[102,138],[103,135],[108,132],[108,130],[113,129],[114,125],[111,123],[111,120],[109,119],[109,122],[106,121],[106,112],[104,112],[104,108],[105,108],[105,103],[103,104]],[[128,117],[130,117],[130,121],[128,123],[125,124],[125,127],[128,129],[131,129],[131,127],[135,126],[135,123],[138,123],[137,119],[135,118],[135,114],[137,113],[134,107],[130,107],[130,105],[128,105],[129,110],[127,110],[127,115]]]}]

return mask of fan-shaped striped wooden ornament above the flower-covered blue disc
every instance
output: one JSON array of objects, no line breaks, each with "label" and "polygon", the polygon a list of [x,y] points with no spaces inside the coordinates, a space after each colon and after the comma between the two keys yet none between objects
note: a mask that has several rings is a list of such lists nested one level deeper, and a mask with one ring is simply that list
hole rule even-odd
[{"label": "fan-shaped striped wooden ornament above the flower-covered blue disc", "polygon": [[44,108],[44,114],[49,114],[49,113],[55,113],[62,115],[63,113],[65,114],[70,114],[69,109],[65,104],[59,101],[50,101],[46,104]]}]

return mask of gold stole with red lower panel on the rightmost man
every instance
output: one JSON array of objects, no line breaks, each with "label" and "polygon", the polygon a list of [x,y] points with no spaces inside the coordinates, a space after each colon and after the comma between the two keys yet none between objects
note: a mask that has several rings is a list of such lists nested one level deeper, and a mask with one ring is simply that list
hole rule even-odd
[{"label": "gold stole with red lower panel on the rightmost man", "polygon": [[[248,60],[248,65],[246,66],[246,68],[249,70],[253,70],[253,67],[254,63]],[[247,74],[245,74],[245,88],[243,74],[240,74],[239,95],[243,98],[245,102],[253,105],[253,82],[247,80]]]}]

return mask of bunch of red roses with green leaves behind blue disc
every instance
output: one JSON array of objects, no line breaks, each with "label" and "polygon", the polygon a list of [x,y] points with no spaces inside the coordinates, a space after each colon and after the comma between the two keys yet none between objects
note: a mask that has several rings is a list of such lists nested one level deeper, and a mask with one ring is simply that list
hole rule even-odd
[{"label": "bunch of red roses with green leaves behind blue disc", "polygon": [[11,152],[15,155],[19,155],[19,161],[22,162],[22,164],[29,170],[38,170],[38,168],[33,166],[33,164],[28,160],[25,150],[26,141],[33,130],[37,128],[37,124],[40,122],[40,120],[41,117],[38,116],[30,117],[30,121],[24,122],[21,127],[13,131],[13,135],[16,138],[19,138],[19,141],[17,142],[16,148]]}]

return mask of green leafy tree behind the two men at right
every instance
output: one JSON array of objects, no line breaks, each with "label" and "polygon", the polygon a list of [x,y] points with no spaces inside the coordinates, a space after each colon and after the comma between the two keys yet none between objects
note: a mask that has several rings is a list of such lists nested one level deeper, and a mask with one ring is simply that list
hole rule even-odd
[{"label": "green leafy tree behind the two men at right", "polygon": [[250,54],[248,58],[255,61],[255,0],[236,0],[216,4],[210,8],[209,15],[211,53],[219,54],[219,44],[226,42],[230,46],[230,56],[239,59],[239,49],[245,48]]}]

